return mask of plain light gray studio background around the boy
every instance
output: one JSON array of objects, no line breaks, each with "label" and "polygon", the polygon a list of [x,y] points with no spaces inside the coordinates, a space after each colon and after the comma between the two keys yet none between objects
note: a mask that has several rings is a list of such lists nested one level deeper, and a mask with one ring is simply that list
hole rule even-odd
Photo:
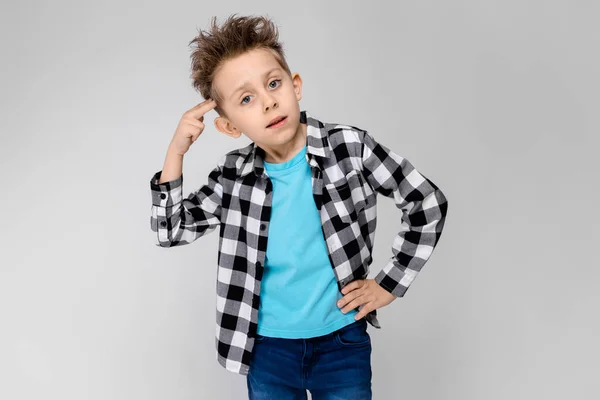
[{"label": "plain light gray studio background around the boy", "polygon": [[[449,199],[372,327],[375,399],[597,399],[593,1],[3,3],[0,398],[242,399],[215,358],[218,233],[163,249],[152,174],[213,15],[263,14],[302,110],[369,130]],[[246,145],[207,129],[184,191]],[[380,197],[370,277],[400,225]]]}]

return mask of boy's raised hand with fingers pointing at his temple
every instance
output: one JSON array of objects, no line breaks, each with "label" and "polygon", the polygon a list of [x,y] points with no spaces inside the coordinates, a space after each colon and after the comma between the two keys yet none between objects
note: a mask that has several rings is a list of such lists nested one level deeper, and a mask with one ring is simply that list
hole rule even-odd
[{"label": "boy's raised hand with fingers pointing at his temple", "polygon": [[184,155],[204,131],[204,114],[215,108],[216,105],[213,99],[207,99],[187,110],[179,120],[173,139],[169,144],[169,150],[175,154]]}]

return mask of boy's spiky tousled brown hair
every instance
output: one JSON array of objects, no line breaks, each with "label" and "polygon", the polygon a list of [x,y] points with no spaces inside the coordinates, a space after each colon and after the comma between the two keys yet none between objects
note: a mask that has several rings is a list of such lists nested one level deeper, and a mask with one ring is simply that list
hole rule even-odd
[{"label": "boy's spiky tousled brown hair", "polygon": [[213,17],[210,31],[199,31],[197,37],[190,41],[195,44],[191,54],[192,86],[205,99],[214,99],[217,103],[215,111],[224,115],[220,104],[222,96],[213,88],[213,80],[219,67],[227,60],[244,52],[264,48],[273,53],[281,67],[292,75],[285,60],[283,44],[279,42],[277,26],[263,16],[240,16],[232,14],[219,28]]}]

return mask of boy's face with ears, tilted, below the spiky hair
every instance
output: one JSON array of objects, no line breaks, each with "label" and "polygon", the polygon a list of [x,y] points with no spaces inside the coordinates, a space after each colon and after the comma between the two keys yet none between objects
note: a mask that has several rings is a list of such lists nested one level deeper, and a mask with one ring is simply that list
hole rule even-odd
[{"label": "boy's face with ears, tilted, below the spiky hair", "polygon": [[[255,49],[226,61],[213,85],[223,98],[219,106],[226,115],[214,121],[220,132],[234,138],[244,133],[267,153],[287,148],[303,132],[300,75],[290,77],[269,50]],[[267,128],[279,115],[287,116],[285,124]]]}]

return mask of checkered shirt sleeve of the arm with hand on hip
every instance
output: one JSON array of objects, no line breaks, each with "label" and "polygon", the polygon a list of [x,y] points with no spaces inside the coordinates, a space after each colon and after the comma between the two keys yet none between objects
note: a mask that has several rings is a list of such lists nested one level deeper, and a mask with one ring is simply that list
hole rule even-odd
[{"label": "checkered shirt sleeve of the arm with hand on hip", "polygon": [[376,275],[384,289],[402,297],[440,240],[448,200],[442,191],[406,159],[364,131],[363,174],[377,193],[394,199],[402,211],[401,229],[392,243],[393,256]]}]

